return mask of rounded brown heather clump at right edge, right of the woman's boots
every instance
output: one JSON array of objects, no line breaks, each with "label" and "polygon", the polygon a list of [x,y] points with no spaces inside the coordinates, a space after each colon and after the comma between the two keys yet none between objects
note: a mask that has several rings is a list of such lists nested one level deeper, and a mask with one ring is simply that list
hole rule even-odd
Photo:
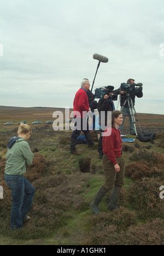
[{"label": "rounded brown heather clump at right edge, right of the woman's boots", "polygon": [[139,218],[163,218],[164,200],[160,199],[160,186],[164,179],[143,178],[142,181],[130,185],[127,190],[128,201],[137,211]]}]

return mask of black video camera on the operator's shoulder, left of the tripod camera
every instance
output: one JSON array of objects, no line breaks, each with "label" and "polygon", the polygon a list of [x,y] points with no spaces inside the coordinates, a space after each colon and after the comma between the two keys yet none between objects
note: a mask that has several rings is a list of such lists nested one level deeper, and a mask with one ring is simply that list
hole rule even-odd
[{"label": "black video camera on the operator's shoulder, left of the tripod camera", "polygon": [[107,94],[109,95],[110,92],[113,92],[112,95],[112,100],[117,101],[118,100],[118,95],[120,94],[120,90],[113,90],[114,86],[108,85],[108,86],[103,86],[99,89],[95,90],[95,98],[101,98],[103,100],[104,96]]}]

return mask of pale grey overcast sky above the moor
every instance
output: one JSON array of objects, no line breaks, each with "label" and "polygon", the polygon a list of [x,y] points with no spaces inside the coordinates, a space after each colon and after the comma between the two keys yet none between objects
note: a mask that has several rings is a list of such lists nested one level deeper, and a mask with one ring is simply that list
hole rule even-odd
[{"label": "pale grey overcast sky above the moor", "polygon": [[93,92],[133,78],[136,112],[164,114],[163,32],[163,0],[0,0],[0,105],[72,108],[97,53]]}]

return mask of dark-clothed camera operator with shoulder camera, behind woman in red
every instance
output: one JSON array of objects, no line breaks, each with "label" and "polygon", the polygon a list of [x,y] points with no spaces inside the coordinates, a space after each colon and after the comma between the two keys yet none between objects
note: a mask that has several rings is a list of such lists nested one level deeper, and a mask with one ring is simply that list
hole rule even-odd
[{"label": "dark-clothed camera operator with shoulder camera, behind woman in red", "polygon": [[[109,90],[108,94],[104,95],[104,98],[101,98],[98,101],[97,109],[98,109],[98,112],[99,112],[99,125],[100,126],[101,126],[101,111],[105,112],[105,125],[107,126],[108,111],[115,110],[114,103],[112,101],[113,92],[110,92],[110,91],[113,91],[113,89],[114,89],[114,87],[109,85],[108,86],[108,90]],[[100,137],[99,137],[99,141],[98,141],[99,159],[103,158],[103,148],[102,148],[103,136],[102,136],[102,132],[104,132],[104,131],[101,129],[101,133],[100,133]]]}]

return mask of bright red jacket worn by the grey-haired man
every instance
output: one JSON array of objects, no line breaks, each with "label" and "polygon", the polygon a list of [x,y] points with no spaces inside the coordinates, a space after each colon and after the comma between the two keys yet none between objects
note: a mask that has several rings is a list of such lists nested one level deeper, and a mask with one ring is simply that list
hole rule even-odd
[{"label": "bright red jacket worn by the grey-haired man", "polygon": [[[78,111],[80,115],[78,115],[76,111]],[[83,118],[84,117],[83,111],[86,111],[86,112],[89,111],[89,102],[86,95],[86,91],[80,88],[74,97],[74,102],[73,102],[74,116],[78,118]]]}]

